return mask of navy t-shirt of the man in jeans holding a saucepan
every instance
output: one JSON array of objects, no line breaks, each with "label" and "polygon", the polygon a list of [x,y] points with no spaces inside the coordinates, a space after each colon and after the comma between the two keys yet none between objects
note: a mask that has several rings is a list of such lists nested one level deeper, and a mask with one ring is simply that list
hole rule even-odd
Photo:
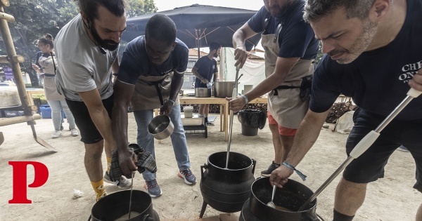
[{"label": "navy t-shirt of the man in jeans holding a saucepan", "polygon": [[139,76],[163,76],[172,71],[183,73],[188,67],[188,47],[176,39],[176,46],[161,65],[152,65],[145,49],[145,37],[139,36],[127,43],[124,48],[117,79],[124,83],[135,84]]}]

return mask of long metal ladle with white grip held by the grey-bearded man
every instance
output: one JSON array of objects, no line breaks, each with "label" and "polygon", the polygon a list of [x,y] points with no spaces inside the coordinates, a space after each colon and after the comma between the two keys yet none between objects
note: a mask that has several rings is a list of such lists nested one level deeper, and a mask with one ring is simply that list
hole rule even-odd
[{"label": "long metal ladle with white grip held by the grey-bearded man", "polygon": [[385,126],[388,125],[392,121],[392,119],[399,114],[399,112],[406,107],[411,100],[414,98],[418,98],[419,95],[421,95],[422,91],[416,91],[414,88],[410,88],[410,90],[407,92],[407,97],[404,98],[404,100],[391,112],[390,115],[388,115],[383,122],[375,129],[369,132],[362,140],[356,145],[356,147],[353,148],[352,152],[350,152],[349,157],[343,162],[343,164],[340,165],[340,167],[335,170],[335,172],[324,182],[319,189],[316,190],[314,194],[305,202],[303,205],[299,208],[298,211],[303,211],[305,207],[314,201],[316,199],[316,196],[321,194],[321,192],[334,180],[337,175],[343,171],[343,169],[349,165],[354,159],[357,159],[360,155],[362,155],[364,152],[366,152],[366,149],[371,147],[373,142],[378,138],[380,135],[381,130],[385,128]]}]

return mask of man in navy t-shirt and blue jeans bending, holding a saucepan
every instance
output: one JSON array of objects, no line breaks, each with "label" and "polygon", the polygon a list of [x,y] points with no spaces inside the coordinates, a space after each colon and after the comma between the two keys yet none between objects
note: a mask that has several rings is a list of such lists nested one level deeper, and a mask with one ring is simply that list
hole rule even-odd
[{"label": "man in navy t-shirt and blue jeans bending, holding a saucepan", "polygon": [[[135,166],[127,151],[127,107],[132,103],[138,126],[137,141],[140,147],[151,152],[155,159],[154,138],[148,132],[153,119],[153,109],[170,116],[174,130],[170,138],[179,168],[179,177],[187,185],[196,183],[191,171],[186,136],[181,123],[179,91],[183,73],[188,64],[188,47],[176,38],[176,25],[166,15],[156,14],[146,23],[145,36],[138,36],[124,49],[117,81],[113,108],[113,133],[119,152],[120,166],[124,175],[130,175]],[[132,102],[131,102],[132,101]],[[122,156],[122,157],[120,157]],[[144,187],[151,197],[162,195],[156,173],[142,173]]]}]

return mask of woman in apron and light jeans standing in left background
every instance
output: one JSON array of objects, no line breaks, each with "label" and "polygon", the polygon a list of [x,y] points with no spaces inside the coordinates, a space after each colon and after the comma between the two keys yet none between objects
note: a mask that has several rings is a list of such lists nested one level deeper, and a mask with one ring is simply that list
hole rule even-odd
[{"label": "woman in apron and light jeans standing in left background", "polygon": [[63,111],[66,114],[66,119],[68,119],[70,135],[77,137],[79,133],[76,130],[75,119],[65,101],[65,96],[57,92],[57,62],[53,50],[53,36],[46,34],[40,37],[37,41],[37,46],[40,51],[37,52],[37,58],[35,59],[35,64],[32,64],[32,68],[39,74],[41,79],[44,79],[44,94],[51,108],[51,119],[54,126],[53,138],[60,138],[62,135]]}]

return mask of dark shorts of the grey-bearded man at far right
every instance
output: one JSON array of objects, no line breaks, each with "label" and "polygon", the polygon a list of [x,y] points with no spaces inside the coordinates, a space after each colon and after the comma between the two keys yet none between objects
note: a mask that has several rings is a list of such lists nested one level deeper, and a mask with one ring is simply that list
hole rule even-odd
[{"label": "dark shorts of the grey-bearded man at far right", "polygon": [[[375,130],[385,116],[359,108],[354,112],[354,126],[347,138],[347,156],[354,146],[371,130]],[[422,119],[415,121],[392,120],[380,133],[378,139],[343,172],[343,178],[350,182],[368,183],[384,177],[384,166],[397,147],[407,147],[416,162],[415,189],[422,192]]]}]

